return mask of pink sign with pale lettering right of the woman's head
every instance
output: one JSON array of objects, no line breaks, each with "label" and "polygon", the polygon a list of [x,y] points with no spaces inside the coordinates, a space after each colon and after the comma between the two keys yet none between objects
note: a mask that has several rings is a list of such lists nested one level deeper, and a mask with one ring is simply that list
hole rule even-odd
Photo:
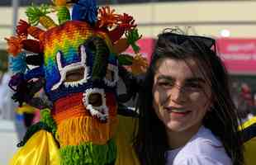
[{"label": "pink sign with pale lettering right of the woman's head", "polygon": [[216,45],[229,73],[256,74],[256,39],[222,38]]}]

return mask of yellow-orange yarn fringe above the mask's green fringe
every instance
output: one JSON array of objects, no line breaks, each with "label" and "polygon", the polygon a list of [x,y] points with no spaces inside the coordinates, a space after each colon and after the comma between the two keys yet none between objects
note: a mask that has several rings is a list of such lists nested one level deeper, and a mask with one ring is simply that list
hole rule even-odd
[{"label": "yellow-orange yarn fringe above the mask's green fringe", "polygon": [[101,123],[92,116],[81,116],[63,120],[57,128],[56,137],[60,147],[92,142],[107,144],[116,132],[118,120],[110,116],[107,123]]}]

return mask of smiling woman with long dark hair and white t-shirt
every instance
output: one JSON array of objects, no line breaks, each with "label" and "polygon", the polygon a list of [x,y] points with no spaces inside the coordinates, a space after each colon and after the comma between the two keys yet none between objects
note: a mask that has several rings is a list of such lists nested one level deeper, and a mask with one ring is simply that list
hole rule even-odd
[{"label": "smiling woman with long dark hair and white t-shirt", "polygon": [[242,165],[243,140],[216,42],[165,30],[140,91],[141,165]]}]

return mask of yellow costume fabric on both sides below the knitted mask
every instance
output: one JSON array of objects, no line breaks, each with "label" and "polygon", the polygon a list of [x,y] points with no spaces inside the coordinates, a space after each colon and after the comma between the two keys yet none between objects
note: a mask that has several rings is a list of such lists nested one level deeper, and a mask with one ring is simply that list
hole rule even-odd
[{"label": "yellow costume fabric on both sides below the knitted mask", "polygon": [[[116,165],[139,165],[131,144],[135,120],[118,117]],[[60,165],[59,148],[53,135],[45,130],[38,131],[17,151],[10,165]]]}]

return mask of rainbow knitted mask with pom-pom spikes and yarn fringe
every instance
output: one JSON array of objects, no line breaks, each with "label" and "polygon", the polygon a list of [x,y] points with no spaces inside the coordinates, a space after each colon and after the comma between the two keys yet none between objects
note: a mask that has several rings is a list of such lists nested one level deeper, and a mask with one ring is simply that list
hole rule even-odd
[{"label": "rainbow knitted mask with pom-pom spikes and yarn fringe", "polygon": [[[29,23],[19,21],[17,36],[6,39],[8,51],[13,54],[10,68],[15,73],[9,83],[15,91],[12,98],[20,106],[26,102],[51,109],[54,124],[48,126],[55,128],[52,132],[63,164],[114,163],[116,146],[112,138],[117,111],[121,102],[135,94],[130,90],[135,87],[132,84],[127,86],[126,95],[117,95],[119,76],[126,85],[134,81],[121,65],[146,67],[140,54],[135,58],[121,54],[129,45],[135,53],[139,51],[135,45],[140,39],[135,21],[126,13],[116,14],[110,7],[97,8],[92,0],[53,3],[53,7],[28,7]],[[50,12],[57,12],[59,24],[47,16]],[[37,27],[39,23],[45,29]],[[121,39],[124,34],[126,38]],[[47,101],[34,97],[42,87]]]}]

